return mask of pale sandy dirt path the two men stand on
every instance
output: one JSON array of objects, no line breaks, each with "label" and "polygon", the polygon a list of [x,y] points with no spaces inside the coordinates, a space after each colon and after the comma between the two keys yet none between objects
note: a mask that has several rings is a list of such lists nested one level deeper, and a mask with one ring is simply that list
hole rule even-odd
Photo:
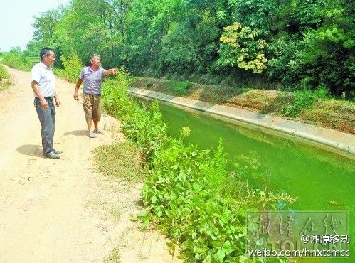
[{"label": "pale sandy dirt path the two men stand on", "polygon": [[[114,139],[87,136],[74,85],[57,80],[54,148],[45,159],[30,73],[7,68],[13,85],[0,92],[0,262],[177,262],[158,232],[139,231],[139,185],[93,171],[91,150]],[[117,122],[104,117],[103,129]],[[115,134],[115,136],[114,136]]]}]

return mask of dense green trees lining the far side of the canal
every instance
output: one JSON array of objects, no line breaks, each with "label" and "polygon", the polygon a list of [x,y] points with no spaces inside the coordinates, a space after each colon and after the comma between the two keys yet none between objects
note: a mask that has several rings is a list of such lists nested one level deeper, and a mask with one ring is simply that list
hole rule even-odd
[{"label": "dense green trees lining the far side of the canal", "polygon": [[229,85],[260,78],[351,97],[354,12],[346,0],[73,0],[36,16],[27,52],[50,45],[83,64],[100,53],[103,65],[137,75]]}]

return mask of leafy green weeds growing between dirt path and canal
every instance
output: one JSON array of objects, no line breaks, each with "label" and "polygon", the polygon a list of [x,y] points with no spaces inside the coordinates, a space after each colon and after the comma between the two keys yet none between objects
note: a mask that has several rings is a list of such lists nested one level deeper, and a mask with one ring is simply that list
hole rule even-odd
[{"label": "leafy green weeds growing between dirt path and canal", "polygon": [[270,209],[277,200],[295,199],[253,190],[245,181],[232,186],[228,180],[234,181],[236,174],[228,175],[221,142],[215,151],[186,145],[188,127],[181,129],[180,138],[169,137],[157,103],[142,107],[129,98],[128,85],[127,74],[120,71],[116,80],[103,84],[102,100],[147,161],[149,176],[142,191],[146,208],[138,215],[143,225],[156,222],[174,241],[171,249],[179,242],[187,262],[265,262],[245,257],[245,210]]}]

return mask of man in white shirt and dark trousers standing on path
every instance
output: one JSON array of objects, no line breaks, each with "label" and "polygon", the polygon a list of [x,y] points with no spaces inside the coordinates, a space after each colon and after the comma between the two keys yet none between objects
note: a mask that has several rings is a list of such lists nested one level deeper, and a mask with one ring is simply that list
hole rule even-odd
[{"label": "man in white shirt and dark trousers standing on path", "polygon": [[55,91],[55,77],[51,69],[55,60],[54,50],[42,48],[41,62],[31,69],[31,87],[35,97],[34,105],[41,122],[41,136],[43,155],[51,159],[59,159],[62,151],[53,149],[53,136],[55,130],[55,105],[60,107],[60,100]]}]

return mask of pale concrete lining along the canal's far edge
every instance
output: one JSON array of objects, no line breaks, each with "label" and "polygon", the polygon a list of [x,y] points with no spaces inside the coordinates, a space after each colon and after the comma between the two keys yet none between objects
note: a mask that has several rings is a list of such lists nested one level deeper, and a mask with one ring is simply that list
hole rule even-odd
[{"label": "pale concrete lining along the canal's far edge", "polygon": [[160,100],[184,109],[203,112],[226,122],[260,132],[282,136],[292,141],[300,141],[355,160],[355,135],[352,134],[245,109],[174,97],[152,90],[129,87],[129,92],[138,97]]}]

